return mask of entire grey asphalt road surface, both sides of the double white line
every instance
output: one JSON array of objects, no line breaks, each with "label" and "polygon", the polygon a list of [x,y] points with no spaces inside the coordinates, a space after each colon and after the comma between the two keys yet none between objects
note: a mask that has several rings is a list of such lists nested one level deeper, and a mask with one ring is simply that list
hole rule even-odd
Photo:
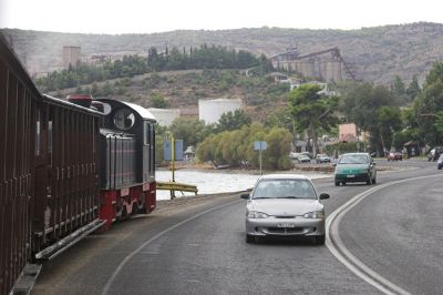
[{"label": "entire grey asphalt road surface, both sides of the double white line", "polygon": [[[378,184],[439,174],[436,163],[403,161]],[[443,176],[443,173],[440,173]],[[364,264],[414,294],[442,294],[442,176],[384,187],[340,224]],[[371,186],[333,186],[327,215]],[[190,202],[190,201],[189,201]],[[34,294],[378,294],[326,246],[309,241],[246,244],[238,195],[159,210],[91,235],[43,267]],[[440,247],[439,247],[440,246]]]}]

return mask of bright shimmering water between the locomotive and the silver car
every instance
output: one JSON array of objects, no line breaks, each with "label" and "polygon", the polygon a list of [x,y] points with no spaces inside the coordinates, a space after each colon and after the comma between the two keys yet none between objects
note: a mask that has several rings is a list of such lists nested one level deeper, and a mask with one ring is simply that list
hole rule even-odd
[{"label": "bright shimmering water between the locomotive and the silver car", "polygon": [[[303,173],[311,180],[328,176],[327,174]],[[171,171],[156,171],[157,181],[172,181]],[[260,175],[233,171],[202,171],[202,170],[177,170],[175,181],[197,185],[198,194],[216,194],[227,192],[239,192],[251,189]],[[176,192],[182,196],[182,192]],[[184,193],[184,195],[194,195]],[[157,191],[157,200],[171,199],[169,191]]]}]

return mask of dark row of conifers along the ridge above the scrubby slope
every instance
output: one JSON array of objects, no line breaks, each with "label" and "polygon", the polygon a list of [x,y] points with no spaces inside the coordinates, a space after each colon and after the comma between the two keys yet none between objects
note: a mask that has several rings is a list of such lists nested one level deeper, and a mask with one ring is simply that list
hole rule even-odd
[{"label": "dark row of conifers along the ridge above the scrubby slope", "polygon": [[137,74],[167,70],[189,69],[248,69],[259,68],[266,58],[256,58],[244,50],[229,50],[226,47],[203,44],[183,51],[177,48],[165,49],[158,52],[154,47],[148,49],[147,58],[140,55],[124,55],[121,60],[107,61],[103,65],[92,65],[83,62],[70,65],[69,69],[54,71],[47,77],[35,80],[37,87],[43,91],[55,91],[66,88],[76,88],[82,84],[105,81],[116,78],[131,78]]}]

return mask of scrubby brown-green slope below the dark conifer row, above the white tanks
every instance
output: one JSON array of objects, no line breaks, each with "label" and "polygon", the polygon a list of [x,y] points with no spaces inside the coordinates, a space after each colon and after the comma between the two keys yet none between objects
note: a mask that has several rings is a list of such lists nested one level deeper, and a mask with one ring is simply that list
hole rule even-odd
[{"label": "scrubby brown-green slope below the dark conifer row, above the white tanks", "polygon": [[161,96],[173,109],[183,114],[198,116],[199,99],[240,99],[245,111],[255,120],[265,120],[277,106],[287,104],[289,84],[276,83],[272,79],[246,77],[233,70],[189,70],[147,73],[133,78],[114,79],[51,92],[50,95],[65,98],[74,93],[92,93],[94,98],[124,100],[152,105],[152,98]]}]

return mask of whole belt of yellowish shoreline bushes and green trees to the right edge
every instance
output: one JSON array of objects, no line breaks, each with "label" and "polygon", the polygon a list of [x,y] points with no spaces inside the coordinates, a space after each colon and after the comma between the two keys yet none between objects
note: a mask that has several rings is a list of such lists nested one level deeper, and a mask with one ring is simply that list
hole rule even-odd
[{"label": "whole belt of yellowish shoreline bushes and green trees to the right edge", "polygon": [[[404,96],[399,95],[399,89],[404,89],[400,92]],[[266,141],[264,167],[269,170],[291,166],[288,154],[295,138],[311,140],[312,150],[318,150],[317,139],[324,134],[337,138],[340,123],[356,123],[360,132],[368,132],[365,151],[378,155],[392,149],[401,151],[409,141],[420,146],[443,144],[442,62],[432,67],[423,88],[414,77],[408,88],[348,82],[339,85],[337,93],[328,96],[317,84],[307,83],[293,89],[288,94],[287,106],[270,112],[262,123],[253,122],[238,111],[224,114],[213,126],[198,120],[179,119],[171,130],[176,138],[187,139],[187,144],[197,145],[200,161],[217,164],[257,167],[254,142]],[[406,95],[413,96],[405,99]],[[337,148],[356,151],[357,145],[339,143]]]}]

